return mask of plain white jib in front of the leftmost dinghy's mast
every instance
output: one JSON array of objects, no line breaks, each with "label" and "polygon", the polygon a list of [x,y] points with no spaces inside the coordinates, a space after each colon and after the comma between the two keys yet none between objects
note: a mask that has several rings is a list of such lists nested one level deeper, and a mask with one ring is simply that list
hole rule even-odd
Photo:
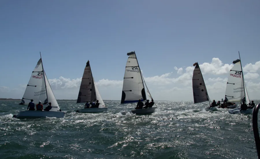
[{"label": "plain white jib in front of the leftmost dinghy's mast", "polygon": [[44,76],[45,76],[45,83],[46,83],[46,89],[47,89],[47,96],[48,96],[48,102],[51,102],[51,111],[60,111],[60,107],[59,107],[59,104],[57,103],[57,100],[53,94],[53,91],[51,89],[51,85],[48,81],[48,78],[45,74],[45,71],[44,71]]}]

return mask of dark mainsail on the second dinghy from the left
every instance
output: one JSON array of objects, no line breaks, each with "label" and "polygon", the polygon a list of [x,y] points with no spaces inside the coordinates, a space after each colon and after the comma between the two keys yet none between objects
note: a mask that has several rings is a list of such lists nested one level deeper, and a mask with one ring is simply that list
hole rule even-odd
[{"label": "dark mainsail on the second dinghy from the left", "polygon": [[96,101],[96,91],[94,87],[94,80],[90,68],[89,61],[86,64],[80,88],[77,103]]}]

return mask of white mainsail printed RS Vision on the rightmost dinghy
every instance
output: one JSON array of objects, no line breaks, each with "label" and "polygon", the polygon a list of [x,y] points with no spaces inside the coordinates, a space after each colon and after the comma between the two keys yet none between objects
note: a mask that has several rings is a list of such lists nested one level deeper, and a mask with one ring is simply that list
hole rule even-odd
[{"label": "white mainsail printed RS Vision on the rightmost dinghy", "polygon": [[233,63],[234,66],[229,72],[229,78],[226,84],[225,100],[239,103],[242,102],[243,99],[245,100],[243,76],[240,60],[235,60]]}]

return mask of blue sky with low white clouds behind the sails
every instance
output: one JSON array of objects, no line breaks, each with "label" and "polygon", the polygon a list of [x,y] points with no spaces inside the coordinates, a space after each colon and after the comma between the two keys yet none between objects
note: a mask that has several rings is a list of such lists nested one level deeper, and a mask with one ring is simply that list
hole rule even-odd
[{"label": "blue sky with low white clouds behind the sails", "polygon": [[193,100],[198,62],[221,100],[241,56],[250,99],[260,99],[259,0],[0,1],[0,98],[21,99],[40,53],[57,99],[77,99],[89,60],[103,100],[120,100],[135,51],[154,100]]}]

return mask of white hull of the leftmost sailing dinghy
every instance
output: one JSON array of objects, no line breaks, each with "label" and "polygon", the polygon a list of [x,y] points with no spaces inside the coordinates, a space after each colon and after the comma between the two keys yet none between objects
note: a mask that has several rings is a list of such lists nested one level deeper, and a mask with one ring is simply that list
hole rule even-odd
[{"label": "white hull of the leftmost sailing dinghy", "polygon": [[15,118],[26,119],[26,118],[44,118],[44,117],[56,117],[63,118],[64,112],[62,111],[20,111]]}]

